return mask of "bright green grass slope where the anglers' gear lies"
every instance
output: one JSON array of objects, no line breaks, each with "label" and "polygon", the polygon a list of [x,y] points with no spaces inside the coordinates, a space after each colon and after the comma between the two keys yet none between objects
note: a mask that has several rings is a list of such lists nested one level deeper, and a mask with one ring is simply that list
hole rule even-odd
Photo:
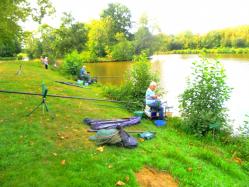
[{"label": "bright green grass slope where the anglers' gear lies", "polygon": [[[0,62],[1,89],[40,93],[44,81],[50,94],[104,98],[99,86],[82,89],[55,83],[67,80],[38,62],[25,62],[21,75],[15,75],[18,67],[19,62]],[[86,131],[82,119],[129,117],[131,113],[113,103],[48,97],[54,120],[41,108],[26,117],[40,102],[38,96],[0,93],[0,186],[108,187],[118,180],[125,186],[138,186],[135,173],[144,166],[170,173],[180,186],[248,186],[248,162],[239,165],[226,146],[178,131],[172,127],[174,118],[160,128],[149,120],[128,127],[157,132],[156,138],[136,149],[105,146],[104,152],[98,152],[88,140],[93,133]]]}]

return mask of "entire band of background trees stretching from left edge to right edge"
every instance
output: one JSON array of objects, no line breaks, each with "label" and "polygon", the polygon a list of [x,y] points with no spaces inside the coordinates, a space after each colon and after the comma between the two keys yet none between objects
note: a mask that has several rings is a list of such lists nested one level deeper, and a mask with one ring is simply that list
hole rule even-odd
[{"label": "entire band of background trees stretching from left edge to right edge", "polygon": [[56,59],[74,52],[85,62],[98,59],[122,61],[131,60],[142,52],[149,56],[155,52],[184,49],[249,47],[249,26],[211,31],[203,35],[190,31],[167,35],[153,33],[147,16],[143,15],[134,29],[130,10],[120,3],[110,3],[99,19],[89,23],[76,22],[71,14],[64,13],[59,28],[42,24],[36,31],[23,31],[20,21],[31,17],[41,23],[45,15],[55,11],[51,2],[37,0],[37,4],[31,6],[29,0],[2,1],[0,56],[16,56],[22,51],[30,58],[46,55]]}]

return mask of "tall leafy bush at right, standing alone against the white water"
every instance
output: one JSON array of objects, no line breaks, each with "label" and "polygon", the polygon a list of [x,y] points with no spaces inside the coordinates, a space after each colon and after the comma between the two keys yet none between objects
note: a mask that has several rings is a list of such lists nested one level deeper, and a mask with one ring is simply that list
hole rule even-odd
[{"label": "tall leafy bush at right, standing alone against the white water", "polygon": [[[212,128],[227,127],[224,103],[229,99],[224,68],[219,61],[193,63],[194,69],[187,89],[180,96],[180,109],[188,130],[205,136]],[[213,129],[214,130],[214,129]]]}]

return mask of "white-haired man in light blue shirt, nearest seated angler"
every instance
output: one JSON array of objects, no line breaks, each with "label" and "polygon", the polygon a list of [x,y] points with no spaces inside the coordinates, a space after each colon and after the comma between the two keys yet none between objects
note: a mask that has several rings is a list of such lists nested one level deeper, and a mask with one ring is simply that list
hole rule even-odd
[{"label": "white-haired man in light blue shirt, nearest seated angler", "polygon": [[156,88],[157,88],[157,83],[152,81],[146,91],[145,101],[146,105],[159,112],[159,119],[162,120],[164,118],[163,107],[161,100],[159,99],[159,95],[155,93]]}]

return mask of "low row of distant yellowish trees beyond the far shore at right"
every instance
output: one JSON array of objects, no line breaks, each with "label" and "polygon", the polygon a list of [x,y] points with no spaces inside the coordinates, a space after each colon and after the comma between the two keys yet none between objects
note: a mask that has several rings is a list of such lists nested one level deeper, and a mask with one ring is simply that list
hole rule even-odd
[{"label": "low row of distant yellowish trees beyond the far shore at right", "polygon": [[[249,26],[210,31],[199,35],[186,31],[177,35],[163,35],[160,51],[182,49],[248,48]],[[233,52],[231,52],[233,53]]]}]

